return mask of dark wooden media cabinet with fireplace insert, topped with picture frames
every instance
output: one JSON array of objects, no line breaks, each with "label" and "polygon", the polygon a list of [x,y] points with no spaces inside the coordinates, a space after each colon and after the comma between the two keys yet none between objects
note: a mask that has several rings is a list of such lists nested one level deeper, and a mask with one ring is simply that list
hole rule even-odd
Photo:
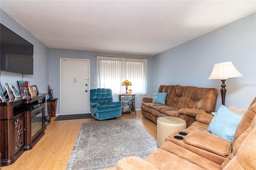
[{"label": "dark wooden media cabinet with fireplace insert, topped with picture frames", "polygon": [[3,166],[13,164],[44,136],[46,93],[0,102],[0,152]]}]

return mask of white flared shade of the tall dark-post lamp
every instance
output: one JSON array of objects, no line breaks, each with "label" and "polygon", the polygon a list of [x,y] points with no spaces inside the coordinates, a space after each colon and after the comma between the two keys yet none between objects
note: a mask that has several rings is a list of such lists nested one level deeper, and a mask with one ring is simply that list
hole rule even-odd
[{"label": "white flared shade of the tall dark-post lamp", "polygon": [[231,61],[214,64],[212,73],[208,79],[228,79],[243,76]]}]

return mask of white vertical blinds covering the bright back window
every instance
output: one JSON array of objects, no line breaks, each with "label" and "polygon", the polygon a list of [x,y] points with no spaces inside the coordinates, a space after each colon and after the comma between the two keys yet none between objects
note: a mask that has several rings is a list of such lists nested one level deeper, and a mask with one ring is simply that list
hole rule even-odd
[{"label": "white vertical blinds covering the bright back window", "polygon": [[97,88],[112,89],[113,95],[126,92],[122,86],[129,80],[132,93],[146,95],[147,59],[97,56]]}]

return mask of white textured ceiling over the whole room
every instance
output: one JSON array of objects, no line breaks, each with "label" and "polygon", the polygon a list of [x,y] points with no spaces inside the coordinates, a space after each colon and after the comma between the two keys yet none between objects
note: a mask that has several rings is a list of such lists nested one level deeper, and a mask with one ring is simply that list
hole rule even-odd
[{"label": "white textured ceiling over the whole room", "polygon": [[156,55],[256,12],[256,1],[1,0],[49,48]]}]

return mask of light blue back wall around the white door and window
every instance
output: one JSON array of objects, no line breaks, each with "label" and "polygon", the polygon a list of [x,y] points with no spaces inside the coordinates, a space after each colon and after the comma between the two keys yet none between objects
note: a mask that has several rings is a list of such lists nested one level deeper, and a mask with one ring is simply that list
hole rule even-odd
[{"label": "light blue back wall around the white door and window", "polygon": [[[97,73],[97,57],[94,54],[101,55],[120,55],[129,57],[146,57],[150,58],[148,60],[148,95],[152,97],[153,91],[153,65],[154,57],[149,55],[131,55],[124,53],[106,53],[106,52],[96,52],[96,51],[80,51],[80,50],[69,50],[69,49],[49,49],[49,85],[54,91],[54,98],[60,98],[60,58],[76,58],[76,59],[90,59],[90,85],[89,89],[97,88],[96,85],[92,85],[92,82],[97,83],[96,73]],[[75,67],[75,66],[74,66]],[[121,83],[121,82],[120,82]],[[141,95],[135,96],[136,109],[140,109]],[[72,95],[71,98],[72,99]],[[114,96],[114,100],[118,101],[118,96]],[[60,114],[60,103],[57,101],[57,111],[56,114]]]}]

